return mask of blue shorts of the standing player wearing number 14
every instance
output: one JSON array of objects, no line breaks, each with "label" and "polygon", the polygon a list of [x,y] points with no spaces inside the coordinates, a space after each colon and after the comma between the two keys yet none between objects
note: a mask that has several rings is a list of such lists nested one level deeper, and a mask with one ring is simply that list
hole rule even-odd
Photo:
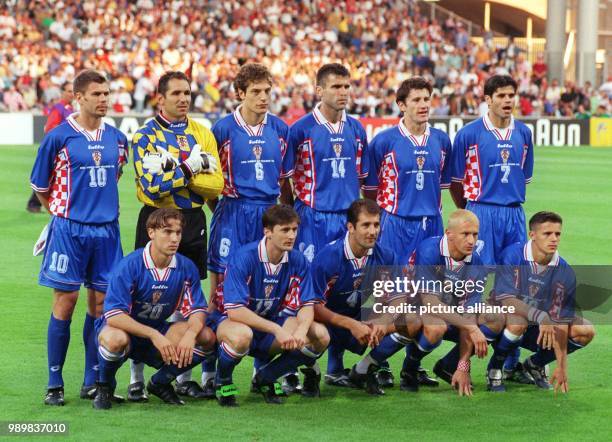
[{"label": "blue shorts of the standing player wearing number 14", "polygon": [[346,210],[321,212],[299,199],[295,202],[295,210],[300,215],[295,248],[302,252],[309,262],[312,262],[323,247],[346,233]]}]

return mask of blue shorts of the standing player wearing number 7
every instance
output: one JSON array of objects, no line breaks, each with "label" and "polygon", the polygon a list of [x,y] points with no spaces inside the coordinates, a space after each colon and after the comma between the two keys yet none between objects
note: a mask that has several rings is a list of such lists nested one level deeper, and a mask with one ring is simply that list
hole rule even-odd
[{"label": "blue shorts of the standing player wearing number 7", "polygon": [[476,248],[485,265],[496,264],[502,250],[509,245],[527,241],[522,206],[496,206],[469,201],[466,209],[474,212],[480,221]]}]

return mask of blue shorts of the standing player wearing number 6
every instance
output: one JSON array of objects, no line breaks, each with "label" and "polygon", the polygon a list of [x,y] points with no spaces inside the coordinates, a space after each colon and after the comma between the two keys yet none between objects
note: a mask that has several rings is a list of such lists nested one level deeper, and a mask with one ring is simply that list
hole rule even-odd
[{"label": "blue shorts of the standing player wearing number 6", "polygon": [[222,198],[210,222],[208,270],[223,273],[233,252],[263,237],[261,217],[274,201]]}]

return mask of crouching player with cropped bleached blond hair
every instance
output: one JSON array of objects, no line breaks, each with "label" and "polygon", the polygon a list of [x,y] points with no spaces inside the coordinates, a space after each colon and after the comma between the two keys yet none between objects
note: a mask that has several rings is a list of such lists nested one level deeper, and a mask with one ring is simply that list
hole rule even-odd
[{"label": "crouching player with cropped bleached blond hair", "polygon": [[417,248],[415,279],[424,287],[419,290],[420,301],[428,311],[421,316],[425,333],[411,346],[403,368],[405,377],[414,378],[421,359],[442,338],[456,342],[459,345],[436,363],[434,373],[452,384],[460,396],[472,394],[472,354],[486,356],[487,343],[497,338],[504,325],[502,314],[476,313],[488,273],[475,248],[478,229],[476,215],[456,210],[449,217],[444,236],[428,238]]}]

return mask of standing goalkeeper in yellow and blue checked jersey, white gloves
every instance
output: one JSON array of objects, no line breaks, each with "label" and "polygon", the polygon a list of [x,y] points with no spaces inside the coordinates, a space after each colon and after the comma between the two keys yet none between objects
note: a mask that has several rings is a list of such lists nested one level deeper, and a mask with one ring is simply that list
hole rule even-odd
[{"label": "standing goalkeeper in yellow and blue checked jersey, white gloves", "polygon": [[[149,215],[160,207],[180,210],[185,229],[179,253],[191,259],[201,279],[206,278],[206,216],[202,207],[219,195],[223,177],[218,169],[217,145],[210,130],[187,116],[191,103],[189,78],[178,71],[161,76],[157,86],[160,112],[132,140],[136,192],[144,205],[138,215],[135,249],[149,241]],[[136,361],[137,362],[137,361]],[[146,400],[144,366],[132,364],[128,399]],[[195,382],[177,389],[192,397],[203,392]]]}]

